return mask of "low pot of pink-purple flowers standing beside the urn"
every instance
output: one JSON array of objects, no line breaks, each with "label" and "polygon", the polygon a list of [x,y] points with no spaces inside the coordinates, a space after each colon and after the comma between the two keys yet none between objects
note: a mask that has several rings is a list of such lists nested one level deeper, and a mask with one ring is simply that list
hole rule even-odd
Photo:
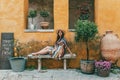
[{"label": "low pot of pink-purple flowers standing beside the urn", "polygon": [[101,77],[109,76],[111,63],[109,61],[96,61],[95,67],[97,69],[97,75]]}]

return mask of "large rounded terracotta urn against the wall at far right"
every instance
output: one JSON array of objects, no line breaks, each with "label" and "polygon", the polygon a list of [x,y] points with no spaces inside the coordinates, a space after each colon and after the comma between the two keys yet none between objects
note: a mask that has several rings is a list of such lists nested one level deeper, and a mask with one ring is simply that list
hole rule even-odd
[{"label": "large rounded terracotta urn against the wall at far right", "polygon": [[105,60],[115,63],[120,58],[120,39],[109,30],[101,39],[101,54]]}]

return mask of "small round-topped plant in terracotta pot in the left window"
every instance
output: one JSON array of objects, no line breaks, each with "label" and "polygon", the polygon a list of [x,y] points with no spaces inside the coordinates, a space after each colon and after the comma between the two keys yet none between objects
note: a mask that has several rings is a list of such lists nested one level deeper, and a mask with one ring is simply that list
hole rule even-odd
[{"label": "small round-topped plant in terracotta pot in the left window", "polygon": [[40,25],[43,29],[47,29],[49,26],[49,22],[46,21],[46,18],[49,17],[49,12],[46,10],[41,10],[40,11],[40,16],[43,17],[44,21],[40,22]]}]

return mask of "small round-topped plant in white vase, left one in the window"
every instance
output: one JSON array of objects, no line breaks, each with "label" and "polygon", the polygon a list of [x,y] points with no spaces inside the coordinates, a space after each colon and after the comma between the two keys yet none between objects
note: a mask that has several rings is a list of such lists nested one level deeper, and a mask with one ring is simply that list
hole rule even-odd
[{"label": "small round-topped plant in white vase, left one in the window", "polygon": [[28,28],[34,29],[35,25],[33,23],[34,18],[37,16],[36,10],[30,10],[28,14]]}]

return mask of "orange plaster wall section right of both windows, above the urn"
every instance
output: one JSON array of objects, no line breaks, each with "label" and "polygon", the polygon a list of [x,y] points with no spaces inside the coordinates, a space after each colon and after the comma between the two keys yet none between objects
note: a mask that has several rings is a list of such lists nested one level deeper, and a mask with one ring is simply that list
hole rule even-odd
[{"label": "orange plaster wall section right of both windows, above the urn", "polygon": [[120,36],[120,0],[95,0],[95,21],[100,33],[113,30]]}]

